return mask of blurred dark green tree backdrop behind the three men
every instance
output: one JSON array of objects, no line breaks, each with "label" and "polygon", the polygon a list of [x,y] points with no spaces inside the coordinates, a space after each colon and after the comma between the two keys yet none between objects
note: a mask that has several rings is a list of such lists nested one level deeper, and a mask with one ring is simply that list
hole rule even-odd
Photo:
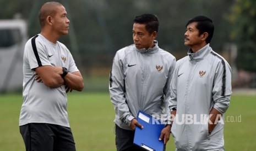
[{"label": "blurred dark green tree backdrop behind the three men", "polygon": [[[28,22],[28,34],[32,37],[40,33],[38,13],[45,2],[47,1],[0,0],[0,19],[12,19],[19,13]],[[184,46],[183,40],[187,21],[196,15],[208,16],[215,25],[211,47],[229,61],[232,70],[237,71],[237,64],[238,71],[256,71],[255,0],[58,2],[66,7],[70,20],[69,34],[59,41],[66,44],[72,52],[85,77],[86,90],[107,90],[113,56],[118,49],[133,43],[132,21],[135,16],[143,13],[159,17],[159,46],[175,55],[177,60],[187,55],[188,48]],[[232,59],[233,47],[230,45],[237,48],[237,60]],[[255,78],[255,74],[253,75]]]}]

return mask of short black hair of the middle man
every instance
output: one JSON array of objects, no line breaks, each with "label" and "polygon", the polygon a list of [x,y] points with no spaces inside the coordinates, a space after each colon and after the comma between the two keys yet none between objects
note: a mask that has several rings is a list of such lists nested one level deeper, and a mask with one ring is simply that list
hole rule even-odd
[{"label": "short black hair of the middle man", "polygon": [[136,16],[133,23],[146,24],[146,31],[148,31],[150,34],[154,31],[157,33],[159,29],[159,19],[153,14],[142,14]]}]

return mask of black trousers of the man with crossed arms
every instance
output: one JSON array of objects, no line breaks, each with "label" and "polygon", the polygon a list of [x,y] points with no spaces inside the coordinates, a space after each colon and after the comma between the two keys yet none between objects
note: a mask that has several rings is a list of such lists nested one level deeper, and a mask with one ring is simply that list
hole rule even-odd
[{"label": "black trousers of the man with crossed arms", "polygon": [[75,151],[75,142],[69,127],[29,123],[20,126],[20,133],[26,151]]}]

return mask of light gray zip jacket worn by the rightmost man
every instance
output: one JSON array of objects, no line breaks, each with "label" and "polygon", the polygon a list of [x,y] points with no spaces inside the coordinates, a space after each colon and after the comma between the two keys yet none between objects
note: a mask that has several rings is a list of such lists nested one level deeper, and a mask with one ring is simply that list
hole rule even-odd
[{"label": "light gray zip jacket worn by the rightmost man", "polygon": [[[231,68],[208,45],[176,63],[171,81],[170,109],[176,108],[172,125],[177,150],[224,150],[224,113],[230,104]],[[212,108],[222,120],[208,132]]]}]

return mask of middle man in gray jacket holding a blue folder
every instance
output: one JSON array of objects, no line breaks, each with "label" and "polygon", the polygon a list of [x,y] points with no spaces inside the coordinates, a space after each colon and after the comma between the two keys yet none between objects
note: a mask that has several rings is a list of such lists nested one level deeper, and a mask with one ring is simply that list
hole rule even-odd
[{"label": "middle man in gray jacket holding a blue folder", "polygon": [[[133,144],[134,130],[143,125],[136,119],[139,111],[146,114],[170,114],[170,82],[176,59],[159,48],[155,40],[159,20],[142,14],[133,20],[134,44],[118,50],[110,73],[110,98],[115,107],[117,150],[142,150]],[[171,126],[161,130],[159,140],[167,143]]]}]

